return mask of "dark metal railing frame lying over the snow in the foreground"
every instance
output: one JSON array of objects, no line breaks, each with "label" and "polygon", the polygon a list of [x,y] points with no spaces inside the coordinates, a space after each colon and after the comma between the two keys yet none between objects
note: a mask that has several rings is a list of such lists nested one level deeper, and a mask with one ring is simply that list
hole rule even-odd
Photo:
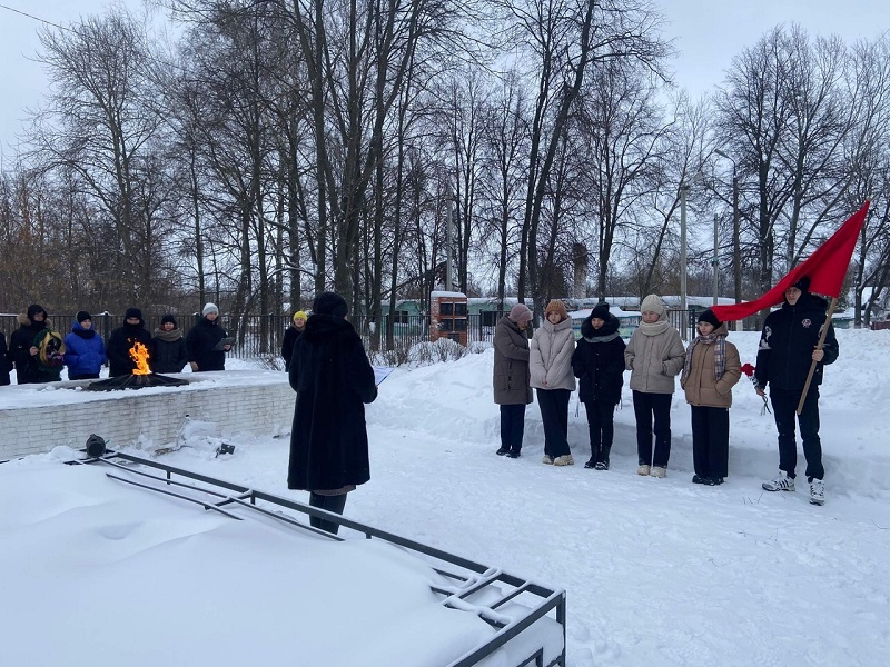
[{"label": "dark metal railing frame lying over the snow in the foreground", "polygon": [[[333,521],[344,528],[364,534],[366,539],[382,539],[407,549],[414,552],[415,556],[421,556],[422,559],[431,565],[438,574],[456,583],[453,588],[433,587],[433,591],[442,596],[442,604],[444,606],[453,609],[465,609],[469,605],[476,610],[479,618],[496,629],[496,634],[488,641],[475,646],[456,660],[443,667],[473,667],[474,665],[478,665],[485,657],[492,655],[507,641],[527,630],[534,623],[551,615],[551,613],[555,615],[554,620],[562,627],[562,651],[555,659],[545,664],[544,647],[541,646],[531,656],[520,661],[516,667],[526,667],[530,665],[534,665],[535,667],[554,667],[556,665],[565,667],[566,665],[566,596],[563,589],[530,581],[523,577],[505,573],[500,568],[488,567],[468,560],[461,556],[393,535],[392,532],[359,524],[358,521],[328,512],[324,509],[216,479],[207,475],[159,464],[158,461],[130,454],[108,450],[100,457],[70,461],[70,464],[109,466],[113,468],[115,471],[106,472],[106,475],[112,479],[200,505],[206,510],[219,512],[234,520],[244,520],[246,517],[259,518],[257,515],[260,515],[299,530],[307,530],[338,541],[343,540],[342,537],[318,530],[308,524],[298,521],[293,516],[269,509],[265,506],[268,504],[276,507],[284,507],[309,517],[322,518],[325,521]],[[140,470],[135,468],[134,465],[160,470],[164,472],[164,476]],[[175,477],[184,478],[184,480],[175,479]],[[196,484],[202,486],[196,486]],[[175,487],[176,490],[170,487]],[[502,590],[503,588],[508,588],[508,593],[504,593]],[[471,596],[486,589],[496,590],[497,599],[486,604],[468,601]],[[515,623],[505,623],[504,615],[498,611],[498,608],[508,601],[518,601],[521,605],[526,606],[528,608],[528,614]]]}]

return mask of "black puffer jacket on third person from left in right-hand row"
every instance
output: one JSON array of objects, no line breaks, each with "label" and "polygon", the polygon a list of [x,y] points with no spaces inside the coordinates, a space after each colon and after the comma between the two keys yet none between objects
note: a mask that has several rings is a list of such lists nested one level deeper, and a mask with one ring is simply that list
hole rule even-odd
[{"label": "black puffer jacket on third person from left in right-hand row", "polygon": [[581,379],[582,402],[621,402],[625,345],[619,336],[619,318],[609,313],[600,329],[593,328],[590,317],[581,325],[582,338],[572,356],[572,370]]}]

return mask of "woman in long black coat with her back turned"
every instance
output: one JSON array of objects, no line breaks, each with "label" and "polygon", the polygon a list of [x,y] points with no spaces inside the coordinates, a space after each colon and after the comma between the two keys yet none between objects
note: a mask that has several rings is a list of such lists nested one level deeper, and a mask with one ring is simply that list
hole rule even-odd
[{"label": "woman in long black coat with her back turned", "polygon": [[[346,494],[370,479],[365,405],[377,398],[362,339],[334,292],[315,298],[306,330],[294,345],[290,386],[297,392],[287,488],[309,491],[309,505],[343,514]],[[338,526],[312,517],[336,535]]]}]

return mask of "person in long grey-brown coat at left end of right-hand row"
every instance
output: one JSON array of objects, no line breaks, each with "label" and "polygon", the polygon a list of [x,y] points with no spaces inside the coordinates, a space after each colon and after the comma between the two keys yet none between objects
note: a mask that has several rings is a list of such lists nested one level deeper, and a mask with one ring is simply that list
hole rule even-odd
[{"label": "person in long grey-brown coat at left end of right-hand row", "polygon": [[501,406],[497,456],[520,458],[525,432],[525,406],[533,401],[528,371],[528,325],[532,311],[516,303],[494,328],[494,402]]}]

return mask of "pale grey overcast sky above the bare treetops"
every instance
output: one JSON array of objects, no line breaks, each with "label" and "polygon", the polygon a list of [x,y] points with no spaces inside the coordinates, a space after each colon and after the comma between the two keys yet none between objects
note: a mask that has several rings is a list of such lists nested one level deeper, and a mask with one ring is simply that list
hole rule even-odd
[{"label": "pale grey overcast sky above the bare treetops", "polygon": [[[141,0],[122,3],[132,9],[142,6]],[[7,158],[14,153],[26,109],[38,107],[47,90],[43,71],[32,61],[40,49],[40,22],[11,10],[68,24],[110,4],[109,0],[0,0],[0,149]],[[890,29],[887,0],[656,0],[656,4],[669,21],[665,36],[675,38],[681,51],[673,63],[675,82],[693,99],[719,84],[732,57],[778,23],[795,21],[814,34],[835,32],[848,43]]]}]

